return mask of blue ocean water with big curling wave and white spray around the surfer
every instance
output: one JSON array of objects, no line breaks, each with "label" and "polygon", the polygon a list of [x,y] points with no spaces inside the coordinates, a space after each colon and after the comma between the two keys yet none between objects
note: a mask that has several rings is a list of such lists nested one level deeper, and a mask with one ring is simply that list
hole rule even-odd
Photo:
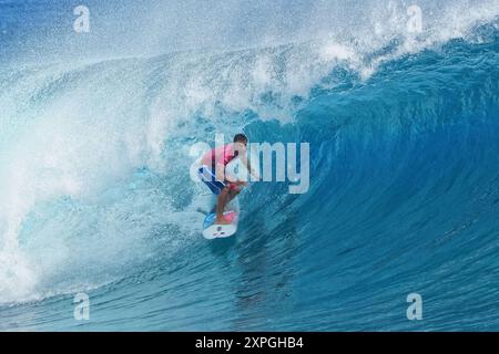
[{"label": "blue ocean water with big curling wave and white spray around the surfer", "polygon": [[[499,3],[410,4],[0,1],[0,330],[498,331]],[[208,242],[189,150],[240,131],[310,188]]]}]

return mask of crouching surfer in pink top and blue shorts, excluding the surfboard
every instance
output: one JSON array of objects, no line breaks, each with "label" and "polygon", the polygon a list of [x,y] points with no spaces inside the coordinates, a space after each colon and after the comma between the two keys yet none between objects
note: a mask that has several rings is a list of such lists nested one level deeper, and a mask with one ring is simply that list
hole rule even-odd
[{"label": "crouching surfer in pink top and blue shorts, excluding the surfboard", "polygon": [[247,170],[258,179],[258,175],[252,169],[247,159],[246,147],[247,137],[244,134],[236,134],[231,144],[207,152],[201,159],[202,166],[198,169],[198,176],[210,190],[217,196],[215,223],[231,223],[224,218],[225,206],[241,192],[244,186],[247,186],[246,181],[237,180],[225,174],[225,167],[228,163],[240,158]]}]

